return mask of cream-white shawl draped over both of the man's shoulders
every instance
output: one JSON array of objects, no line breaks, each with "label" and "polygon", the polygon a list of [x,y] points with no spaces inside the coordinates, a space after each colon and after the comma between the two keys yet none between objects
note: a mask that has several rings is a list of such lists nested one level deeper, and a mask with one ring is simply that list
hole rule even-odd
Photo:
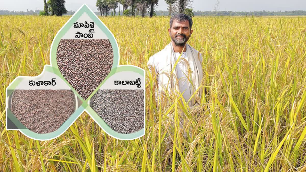
[{"label": "cream-white shawl draped over both of the man's shoulders", "polygon": [[[201,65],[202,55],[199,53],[199,51],[192,48],[188,44],[186,44],[186,54],[186,60],[188,61],[191,69],[191,77],[189,78],[191,82],[188,81],[190,88],[189,92],[190,95],[193,95],[199,88],[203,78],[203,70]],[[177,69],[173,68],[176,60],[177,59],[171,43],[169,43],[163,50],[149,58],[147,65],[152,65],[155,68],[155,72],[157,73],[158,91],[160,93],[167,90],[169,93],[175,94],[175,90],[180,90],[177,84]],[[199,90],[195,96],[201,97],[201,93],[201,90]],[[186,101],[188,101],[188,99]],[[193,98],[189,102],[189,106],[193,106],[195,103],[196,99]]]}]

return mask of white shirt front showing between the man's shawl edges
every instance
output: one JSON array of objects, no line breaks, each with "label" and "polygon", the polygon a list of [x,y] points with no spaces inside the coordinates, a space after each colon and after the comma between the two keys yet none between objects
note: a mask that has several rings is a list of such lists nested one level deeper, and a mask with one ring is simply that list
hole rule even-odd
[{"label": "white shirt front showing between the man's shawl edges", "polygon": [[[177,53],[174,53],[174,55],[177,60],[177,58],[180,56],[180,53],[177,52]],[[186,66],[184,62],[181,61],[182,58],[185,58],[188,61],[186,52],[182,53],[181,58],[176,65],[176,71],[177,71],[177,79],[178,79],[178,88],[180,89],[181,93],[184,92],[183,97],[185,101],[187,102],[191,97],[191,90],[190,90],[190,85],[189,85],[189,81],[187,77],[188,76],[188,66]]]}]

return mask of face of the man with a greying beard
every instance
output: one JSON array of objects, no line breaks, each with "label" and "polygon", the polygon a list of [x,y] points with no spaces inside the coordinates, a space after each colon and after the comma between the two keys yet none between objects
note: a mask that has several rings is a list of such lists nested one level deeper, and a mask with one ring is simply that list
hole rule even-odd
[{"label": "face of the man with a greying beard", "polygon": [[189,27],[188,20],[177,21],[177,19],[173,21],[171,28],[168,29],[172,41],[178,47],[185,46],[185,43],[188,41],[189,37],[191,36],[192,31],[193,30],[190,29]]}]

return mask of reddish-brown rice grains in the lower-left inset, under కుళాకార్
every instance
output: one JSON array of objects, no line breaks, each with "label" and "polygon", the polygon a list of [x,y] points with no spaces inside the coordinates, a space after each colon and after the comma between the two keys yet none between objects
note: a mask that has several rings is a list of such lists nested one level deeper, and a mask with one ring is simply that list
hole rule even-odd
[{"label": "reddish-brown rice grains in the lower-left inset, under \u0c15\u0c41\u0c33\u0c3e\u0c15\u0c3e\u0c30\u0c4d", "polygon": [[51,133],[75,111],[72,90],[15,90],[12,113],[29,130]]}]

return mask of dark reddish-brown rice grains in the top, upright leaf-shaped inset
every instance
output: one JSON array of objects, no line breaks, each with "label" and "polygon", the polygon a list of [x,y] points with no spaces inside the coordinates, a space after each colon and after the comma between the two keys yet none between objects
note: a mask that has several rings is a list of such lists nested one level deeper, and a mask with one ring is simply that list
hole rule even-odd
[{"label": "dark reddish-brown rice grains in the top, upright leaf-shaped inset", "polygon": [[87,99],[110,73],[114,54],[108,39],[62,39],[56,58],[63,77]]}]

